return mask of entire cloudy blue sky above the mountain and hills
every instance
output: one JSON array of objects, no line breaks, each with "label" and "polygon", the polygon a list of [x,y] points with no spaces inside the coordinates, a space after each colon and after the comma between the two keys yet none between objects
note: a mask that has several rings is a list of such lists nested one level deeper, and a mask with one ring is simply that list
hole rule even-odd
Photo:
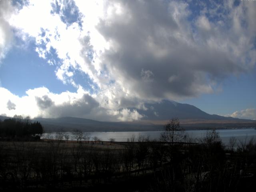
[{"label": "entire cloudy blue sky above the mountain and hills", "polygon": [[0,115],[256,119],[256,1],[0,1]]}]

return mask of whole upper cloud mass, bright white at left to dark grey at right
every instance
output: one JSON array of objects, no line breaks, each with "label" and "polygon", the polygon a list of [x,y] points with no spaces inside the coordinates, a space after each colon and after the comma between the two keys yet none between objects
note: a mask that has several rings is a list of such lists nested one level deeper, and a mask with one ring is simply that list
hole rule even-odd
[{"label": "whole upper cloud mass, bright white at left to dark grey at right", "polygon": [[212,2],[192,15],[176,1],[32,2],[11,23],[36,38],[41,57],[56,50],[64,83],[78,87],[72,71],[81,70],[99,91],[114,82],[118,94],[175,100],[212,93],[223,78],[255,65],[254,10]]}]

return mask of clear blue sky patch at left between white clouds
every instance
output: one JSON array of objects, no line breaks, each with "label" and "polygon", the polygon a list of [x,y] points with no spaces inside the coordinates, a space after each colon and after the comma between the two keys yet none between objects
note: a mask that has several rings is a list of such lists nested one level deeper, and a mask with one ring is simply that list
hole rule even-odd
[{"label": "clear blue sky patch at left between white clouds", "polygon": [[[63,84],[56,78],[56,66],[51,66],[47,60],[38,57],[34,42],[27,49],[12,48],[0,66],[0,81],[2,87],[18,96],[26,95],[26,90],[45,86],[51,92],[76,92],[70,84]],[[54,54],[54,51],[52,52]],[[55,56],[54,56],[55,57]],[[56,57],[54,58],[56,59]]]}]

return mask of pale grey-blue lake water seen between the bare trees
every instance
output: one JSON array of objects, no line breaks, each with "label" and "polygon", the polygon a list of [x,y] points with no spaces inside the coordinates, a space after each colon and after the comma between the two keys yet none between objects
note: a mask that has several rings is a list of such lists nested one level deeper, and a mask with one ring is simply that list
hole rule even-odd
[{"label": "pale grey-blue lake water seen between the bare trees", "polygon": [[[224,144],[228,144],[228,141],[231,137],[236,137],[239,141],[249,141],[251,138],[256,138],[256,130],[254,128],[245,128],[245,129],[224,129],[224,130],[216,130],[222,142]],[[188,138],[192,138],[194,140],[203,138],[206,135],[207,130],[188,130],[185,133],[188,135]],[[64,134],[69,135],[69,140],[75,140],[72,136],[72,132],[65,132]],[[103,141],[108,141],[109,138],[114,138],[115,141],[127,141],[127,138],[131,138],[133,135],[135,136],[135,141],[139,136],[149,137],[150,140],[159,139],[161,131],[144,131],[144,132],[90,132],[91,140],[92,137],[96,136]],[[54,138],[56,132],[45,133],[42,135],[42,138]]]}]

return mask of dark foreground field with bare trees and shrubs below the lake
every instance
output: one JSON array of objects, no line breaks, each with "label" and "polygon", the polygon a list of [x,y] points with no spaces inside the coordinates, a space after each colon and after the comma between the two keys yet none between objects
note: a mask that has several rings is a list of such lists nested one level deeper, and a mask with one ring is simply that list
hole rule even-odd
[{"label": "dark foreground field with bare trees and shrubs below the lake", "polygon": [[164,130],[160,141],[1,141],[0,191],[255,191],[254,140],[223,146],[210,130],[194,143],[177,119]]}]

